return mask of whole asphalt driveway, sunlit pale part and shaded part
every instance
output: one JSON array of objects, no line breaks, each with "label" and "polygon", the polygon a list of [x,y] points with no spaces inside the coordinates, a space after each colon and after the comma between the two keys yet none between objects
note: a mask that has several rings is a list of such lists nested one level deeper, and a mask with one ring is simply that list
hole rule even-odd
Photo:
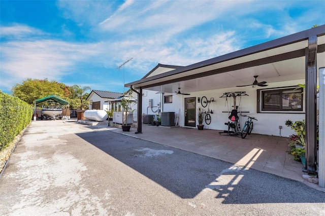
[{"label": "whole asphalt driveway, sunlit pale part and shaded part", "polygon": [[111,130],[32,122],[0,178],[0,214],[325,215],[325,193],[303,183]]}]

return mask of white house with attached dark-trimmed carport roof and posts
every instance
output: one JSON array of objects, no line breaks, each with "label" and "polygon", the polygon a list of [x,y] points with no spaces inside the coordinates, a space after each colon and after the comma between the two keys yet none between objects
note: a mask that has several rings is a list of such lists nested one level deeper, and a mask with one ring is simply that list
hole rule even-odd
[{"label": "white house with attached dark-trimmed carport roof and posts", "polygon": [[[229,121],[235,103],[239,112],[258,119],[254,133],[289,136],[294,131],[284,125],[285,121],[305,119],[306,169],[311,173],[319,169],[319,185],[325,187],[323,121],[319,123],[319,164],[316,160],[316,86],[319,69],[324,67],[325,25],[321,25],[188,66],[158,64],[143,79],[125,87],[138,91],[138,116],[159,109],[175,112],[183,127],[195,127],[196,111],[205,106],[206,111],[213,111],[205,128],[227,130],[224,123]],[[319,116],[323,115],[324,104],[320,103]],[[239,119],[242,124],[244,120]],[[138,121],[137,133],[141,132]]]}]

